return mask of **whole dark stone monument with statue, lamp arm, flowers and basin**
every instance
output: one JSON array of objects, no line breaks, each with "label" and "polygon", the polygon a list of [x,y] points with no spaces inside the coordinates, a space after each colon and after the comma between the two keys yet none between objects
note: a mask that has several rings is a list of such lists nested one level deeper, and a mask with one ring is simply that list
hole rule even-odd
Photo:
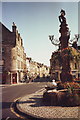
[{"label": "whole dark stone monument with statue, lamp arm, flowers and basin", "polygon": [[[61,57],[62,71],[60,74],[60,80],[57,82],[56,88],[46,87],[46,91],[43,94],[43,102],[45,105],[51,106],[80,106],[80,84],[76,83],[72,79],[71,68],[70,68],[70,48],[69,38],[70,32],[66,23],[65,11],[61,10],[59,21],[60,21],[60,38],[58,43],[53,36],[49,36],[52,44],[58,45],[59,57]],[[78,37],[79,38],[79,37]],[[54,57],[55,58],[55,57]],[[58,57],[57,57],[58,59]]]}]

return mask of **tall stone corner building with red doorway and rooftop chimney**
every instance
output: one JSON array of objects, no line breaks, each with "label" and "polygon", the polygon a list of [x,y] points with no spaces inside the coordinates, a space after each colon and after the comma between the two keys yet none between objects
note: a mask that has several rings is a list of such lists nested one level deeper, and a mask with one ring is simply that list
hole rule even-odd
[{"label": "tall stone corner building with red doorway and rooftop chimney", "polygon": [[19,83],[26,73],[26,53],[23,40],[18,33],[17,26],[13,23],[12,31],[2,23],[2,83]]}]

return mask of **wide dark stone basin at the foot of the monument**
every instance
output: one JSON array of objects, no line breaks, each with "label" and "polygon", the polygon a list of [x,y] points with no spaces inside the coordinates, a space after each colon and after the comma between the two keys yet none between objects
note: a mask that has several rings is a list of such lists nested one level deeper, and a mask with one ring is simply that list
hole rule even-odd
[{"label": "wide dark stone basin at the foot of the monument", "polygon": [[48,106],[80,106],[80,89],[77,92],[69,94],[65,89],[47,91],[43,94],[43,102]]}]

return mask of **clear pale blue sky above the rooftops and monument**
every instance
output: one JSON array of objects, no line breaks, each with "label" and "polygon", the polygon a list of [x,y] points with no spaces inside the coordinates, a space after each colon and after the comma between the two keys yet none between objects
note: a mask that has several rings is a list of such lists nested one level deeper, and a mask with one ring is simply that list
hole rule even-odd
[{"label": "clear pale blue sky above the rooftops and monument", "polygon": [[61,9],[66,11],[70,39],[73,39],[78,33],[77,2],[3,2],[1,22],[10,31],[15,22],[27,57],[49,66],[52,52],[58,48],[52,45],[49,35],[59,39]]}]

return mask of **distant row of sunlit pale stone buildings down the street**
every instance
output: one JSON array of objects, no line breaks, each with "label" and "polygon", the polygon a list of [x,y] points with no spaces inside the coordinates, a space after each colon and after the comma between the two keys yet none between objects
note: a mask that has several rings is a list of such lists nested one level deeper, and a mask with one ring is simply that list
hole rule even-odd
[{"label": "distant row of sunlit pale stone buildings down the street", "polygon": [[44,64],[33,61],[32,58],[26,59],[26,65],[27,74],[31,79],[49,76],[49,67],[47,67]]}]

